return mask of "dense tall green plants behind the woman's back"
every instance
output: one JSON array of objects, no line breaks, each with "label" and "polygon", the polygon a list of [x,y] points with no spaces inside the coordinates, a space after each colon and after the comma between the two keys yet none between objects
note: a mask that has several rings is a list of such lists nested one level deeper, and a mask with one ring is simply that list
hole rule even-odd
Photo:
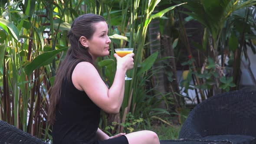
[{"label": "dense tall green plants behind the woman's back", "polygon": [[[79,2],[2,0],[0,119],[45,140],[48,95]],[[72,5],[78,6],[77,10]]]}]

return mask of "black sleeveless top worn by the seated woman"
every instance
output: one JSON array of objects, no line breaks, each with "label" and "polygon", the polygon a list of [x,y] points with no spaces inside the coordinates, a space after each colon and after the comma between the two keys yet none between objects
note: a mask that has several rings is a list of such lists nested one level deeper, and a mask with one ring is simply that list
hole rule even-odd
[{"label": "black sleeveless top worn by the seated woman", "polygon": [[[72,72],[75,66],[72,67]],[[64,79],[61,97],[56,107],[56,121],[53,125],[53,144],[97,144],[96,131],[100,120],[100,108],[85,92],[79,91]]]}]

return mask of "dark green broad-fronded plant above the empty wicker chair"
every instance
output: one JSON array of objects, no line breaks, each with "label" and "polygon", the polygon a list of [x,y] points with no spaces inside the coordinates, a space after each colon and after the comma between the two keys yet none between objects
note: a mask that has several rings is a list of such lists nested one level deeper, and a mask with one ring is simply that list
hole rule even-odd
[{"label": "dark green broad-fronded plant above the empty wicker chair", "polygon": [[[250,17],[248,14],[250,10],[254,9],[252,7],[256,4],[255,0],[215,0],[215,1],[207,1],[207,0],[194,0],[194,1],[187,1],[184,0],[183,2],[187,2],[186,5],[184,5],[184,8],[186,8],[188,11],[181,11],[181,13],[187,14],[190,16],[190,20],[197,20],[199,23],[201,23],[205,29],[204,29],[204,35],[202,37],[202,43],[196,44],[196,47],[200,52],[205,56],[203,59],[207,62],[208,57],[212,58],[214,60],[214,63],[216,65],[215,71],[219,74],[218,77],[212,77],[215,79],[215,84],[212,88],[213,91],[210,90],[210,95],[217,94],[221,92],[220,88],[220,77],[225,76],[225,74],[222,72],[226,68],[225,59],[226,57],[229,57],[231,55],[234,55],[234,61],[236,61],[233,65],[233,83],[238,86],[238,74],[240,71],[240,57],[241,57],[241,51],[245,45],[251,45],[251,39],[252,37],[245,37],[246,32],[250,36],[255,36],[253,33],[254,25],[251,25],[251,29],[248,29],[249,23],[252,23],[252,17]],[[237,15],[238,10],[240,10],[240,16]],[[241,11],[244,11],[243,16],[241,16]],[[246,12],[247,11],[247,12]],[[246,12],[246,13],[245,13]],[[239,18],[238,18],[239,17]],[[250,18],[249,18],[250,17]],[[182,21],[183,19],[179,17]],[[236,22],[243,23],[243,25],[237,26],[235,24],[234,20]],[[183,25],[183,24],[182,24]],[[241,27],[242,26],[242,27]],[[243,29],[243,30],[241,30]],[[247,31],[245,31],[247,29]],[[185,32],[185,31],[183,31]],[[183,39],[188,39],[187,34],[184,33]],[[240,39],[237,39],[239,37]],[[246,39],[247,38],[247,39]],[[249,39],[248,39],[249,38]],[[188,56],[192,56],[192,52],[190,49],[190,44],[188,40],[186,41],[186,47],[188,48]],[[246,41],[249,43],[246,43]],[[227,45],[229,43],[230,45]],[[254,46],[252,46],[252,49],[254,49]],[[221,56],[221,59],[220,59]],[[199,56],[201,57],[201,56]],[[220,65],[219,65],[220,64]],[[197,67],[198,64],[195,62],[192,62],[191,69],[194,73],[197,72],[199,69],[205,69],[205,67]],[[219,66],[217,66],[219,65]],[[203,71],[202,71],[203,72]],[[193,76],[195,85],[204,85],[203,81],[200,81],[200,79],[197,77],[197,75]],[[232,85],[233,86],[233,85]],[[199,89],[201,99],[205,99],[205,94],[207,92],[201,91]],[[209,94],[207,94],[209,95]]]}]

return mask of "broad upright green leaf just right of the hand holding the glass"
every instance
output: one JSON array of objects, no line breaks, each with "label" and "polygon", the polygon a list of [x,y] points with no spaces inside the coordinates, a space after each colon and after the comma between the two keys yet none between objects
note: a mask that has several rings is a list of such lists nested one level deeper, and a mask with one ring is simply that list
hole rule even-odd
[{"label": "broad upright green leaf just right of the hand holding the glass", "polygon": [[145,59],[145,61],[141,63],[141,67],[138,70],[138,74],[141,74],[151,69],[157,57],[158,57],[158,52],[154,52],[147,59]]}]

